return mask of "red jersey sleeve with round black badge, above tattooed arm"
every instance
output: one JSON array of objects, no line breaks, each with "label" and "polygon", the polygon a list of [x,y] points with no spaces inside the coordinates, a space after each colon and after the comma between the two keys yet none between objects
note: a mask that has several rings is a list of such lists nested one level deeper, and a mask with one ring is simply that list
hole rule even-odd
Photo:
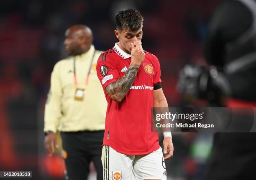
[{"label": "red jersey sleeve with round black badge, above tattooed arm", "polygon": [[[102,54],[100,55],[100,57]],[[102,58],[98,58],[97,61],[97,76],[100,80],[100,83],[105,90],[105,88],[118,80],[120,78],[120,75],[118,73],[118,67],[116,66],[115,62],[110,56],[106,57],[106,60]]]}]

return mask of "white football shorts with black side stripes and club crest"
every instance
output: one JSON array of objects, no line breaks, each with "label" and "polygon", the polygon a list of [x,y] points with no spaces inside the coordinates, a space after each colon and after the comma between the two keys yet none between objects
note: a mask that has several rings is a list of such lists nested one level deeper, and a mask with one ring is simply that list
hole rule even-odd
[{"label": "white football shorts with black side stripes and club crest", "polygon": [[124,155],[104,145],[101,160],[103,180],[166,180],[161,147],[148,155]]}]

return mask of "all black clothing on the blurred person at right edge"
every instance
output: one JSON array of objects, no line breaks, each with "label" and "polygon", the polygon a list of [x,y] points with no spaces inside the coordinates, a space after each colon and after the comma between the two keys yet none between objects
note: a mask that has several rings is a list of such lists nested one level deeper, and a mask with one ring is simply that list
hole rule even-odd
[{"label": "all black clothing on the blurred person at right edge", "polygon": [[[230,97],[256,101],[256,1],[247,0],[253,7],[243,1],[228,0],[216,10],[204,51],[208,63],[222,70]],[[247,119],[241,118],[241,126]],[[255,133],[215,133],[202,179],[256,179],[255,142]]]}]

